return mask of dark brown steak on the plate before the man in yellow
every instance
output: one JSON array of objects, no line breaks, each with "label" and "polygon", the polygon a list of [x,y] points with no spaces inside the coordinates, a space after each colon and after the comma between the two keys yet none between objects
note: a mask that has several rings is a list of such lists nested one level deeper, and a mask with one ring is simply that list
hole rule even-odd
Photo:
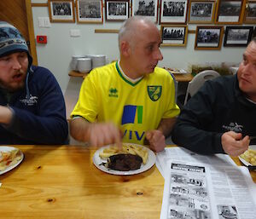
[{"label": "dark brown steak on the plate before the man in yellow", "polygon": [[143,158],[131,153],[119,153],[108,158],[105,166],[111,170],[129,171],[137,170],[141,167]]}]

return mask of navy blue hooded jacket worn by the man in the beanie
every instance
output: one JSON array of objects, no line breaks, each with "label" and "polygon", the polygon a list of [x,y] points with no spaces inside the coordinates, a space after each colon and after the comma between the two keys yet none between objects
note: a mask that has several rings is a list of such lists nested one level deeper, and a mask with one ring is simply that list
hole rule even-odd
[{"label": "navy blue hooded jacket worn by the man in the beanie", "polygon": [[0,125],[0,144],[67,144],[68,126],[61,88],[48,69],[32,66],[24,89],[9,102],[0,92],[0,104],[9,106],[14,117]]}]

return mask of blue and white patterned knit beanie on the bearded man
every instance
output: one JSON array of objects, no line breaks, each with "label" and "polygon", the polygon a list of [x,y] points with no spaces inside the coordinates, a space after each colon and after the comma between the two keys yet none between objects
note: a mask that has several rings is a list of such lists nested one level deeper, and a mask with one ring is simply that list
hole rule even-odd
[{"label": "blue and white patterned knit beanie on the bearded man", "polygon": [[5,21],[0,21],[0,57],[20,51],[27,53],[30,66],[32,57],[29,54],[26,40],[15,26]]}]

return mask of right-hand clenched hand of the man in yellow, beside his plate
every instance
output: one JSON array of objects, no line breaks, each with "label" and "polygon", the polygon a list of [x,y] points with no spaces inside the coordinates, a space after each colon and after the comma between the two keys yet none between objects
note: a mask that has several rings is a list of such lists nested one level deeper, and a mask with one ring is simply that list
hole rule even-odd
[{"label": "right-hand clenched hand of the man in yellow, beside his plate", "polygon": [[166,147],[166,137],[160,130],[149,130],[146,139],[149,142],[149,147],[154,152],[160,152]]}]

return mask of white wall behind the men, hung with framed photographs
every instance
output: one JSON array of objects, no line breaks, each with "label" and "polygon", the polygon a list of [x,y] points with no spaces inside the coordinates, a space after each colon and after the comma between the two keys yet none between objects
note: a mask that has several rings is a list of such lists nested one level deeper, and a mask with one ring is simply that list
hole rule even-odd
[{"label": "white wall behind the men, hung with framed photographs", "polygon": [[[32,3],[46,3],[45,0],[32,0]],[[103,9],[104,11],[104,9]],[[67,102],[67,115],[73,109],[79,95],[82,78],[68,76],[72,55],[104,54],[109,61],[119,57],[118,35],[116,33],[95,33],[95,29],[119,29],[121,22],[105,22],[103,24],[51,23],[50,28],[38,27],[38,17],[48,17],[47,7],[32,7],[35,36],[46,35],[47,44],[37,44],[38,65],[49,68],[55,74]],[[160,27],[160,26],[159,26]],[[189,25],[195,30],[196,25]],[[81,37],[70,37],[71,29],[79,29]],[[187,46],[161,48],[164,60],[159,66],[188,69],[192,64],[206,62],[241,61],[244,48],[224,48],[221,50],[195,50],[195,34],[188,34]]]}]

